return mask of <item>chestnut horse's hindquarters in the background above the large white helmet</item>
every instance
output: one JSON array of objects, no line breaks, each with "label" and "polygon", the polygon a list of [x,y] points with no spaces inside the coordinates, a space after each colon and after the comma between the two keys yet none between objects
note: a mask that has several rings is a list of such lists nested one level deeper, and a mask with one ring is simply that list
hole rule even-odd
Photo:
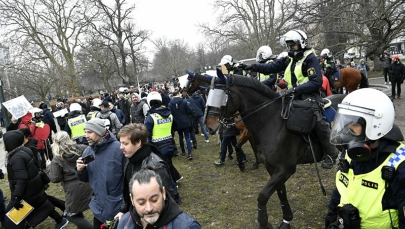
[{"label": "chestnut horse's hindquarters in the background above the large white helmet", "polygon": [[[343,87],[346,87],[346,91],[348,93],[356,90],[358,85],[360,85],[360,88],[369,87],[369,82],[366,75],[355,68],[346,67],[335,72],[332,72],[332,70],[328,69],[325,72],[325,76],[333,83],[333,85],[331,84],[331,87],[332,91],[335,92],[337,91],[337,89]],[[335,88],[333,88],[333,86]]]}]

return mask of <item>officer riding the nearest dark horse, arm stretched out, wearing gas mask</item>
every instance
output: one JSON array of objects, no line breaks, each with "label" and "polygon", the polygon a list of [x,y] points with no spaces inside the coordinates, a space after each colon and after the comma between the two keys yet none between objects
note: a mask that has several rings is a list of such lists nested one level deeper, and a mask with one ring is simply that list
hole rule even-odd
[{"label": "officer riding the nearest dark horse, arm stretched out, wearing gas mask", "polygon": [[[284,81],[288,84],[286,94],[294,94],[295,97],[302,100],[310,99],[314,102],[314,115],[316,124],[314,132],[322,146],[323,160],[322,167],[331,169],[338,156],[337,148],[329,141],[329,124],[322,116],[323,99],[320,97],[320,88],[322,86],[322,75],[318,60],[308,45],[308,37],[305,32],[294,29],[288,31],[280,38],[280,44],[290,49],[288,55],[291,57],[289,62],[283,59],[269,64],[252,64],[245,69],[270,74],[285,70]],[[315,105],[316,104],[316,105]]]}]

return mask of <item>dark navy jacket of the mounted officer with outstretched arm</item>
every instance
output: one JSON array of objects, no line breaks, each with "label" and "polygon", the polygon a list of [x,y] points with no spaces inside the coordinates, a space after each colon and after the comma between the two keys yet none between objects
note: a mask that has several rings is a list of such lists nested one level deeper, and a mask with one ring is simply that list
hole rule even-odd
[{"label": "dark navy jacket of the mounted officer with outstretched arm", "polygon": [[[294,62],[297,62],[297,60],[291,58],[290,61],[293,61],[292,66],[295,66]],[[286,61],[280,59],[276,62],[271,62],[268,64],[254,64],[253,70],[263,74],[278,73],[285,71],[288,64],[289,62],[286,63]],[[320,72],[319,62],[313,53],[309,54],[302,64],[302,74],[304,77],[308,77],[307,71],[310,68],[314,69],[315,74],[309,77],[309,81],[307,83],[295,86],[295,91],[298,95],[316,93],[319,92],[319,89],[322,87],[322,74]],[[291,72],[293,71],[294,69],[291,69]],[[293,75],[291,77],[293,78]]]}]

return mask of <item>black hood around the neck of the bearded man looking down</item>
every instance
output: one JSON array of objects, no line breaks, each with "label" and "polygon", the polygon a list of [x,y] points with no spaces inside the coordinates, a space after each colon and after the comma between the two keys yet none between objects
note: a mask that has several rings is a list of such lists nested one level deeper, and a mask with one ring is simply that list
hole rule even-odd
[{"label": "black hood around the neck of the bearded man looking down", "polygon": [[[180,215],[182,211],[177,206],[176,202],[170,197],[169,193],[166,191],[166,200],[165,200],[165,207],[163,212],[153,225],[153,228],[160,228],[164,225],[168,224],[169,222],[173,221],[178,215]],[[142,225],[141,219],[139,218],[138,213],[136,212],[135,208],[132,207],[130,209],[130,214],[132,219],[139,225]],[[149,228],[149,227],[147,227]]]}]

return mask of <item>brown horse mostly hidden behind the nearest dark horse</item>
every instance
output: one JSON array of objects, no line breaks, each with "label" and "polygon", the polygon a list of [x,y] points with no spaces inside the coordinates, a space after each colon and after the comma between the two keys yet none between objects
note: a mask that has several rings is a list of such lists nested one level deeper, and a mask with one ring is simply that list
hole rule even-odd
[{"label": "brown horse mostly hidden behind the nearest dark horse", "polygon": [[[199,73],[192,73],[189,71],[186,71],[188,74],[188,78],[187,78],[187,82],[186,85],[183,87],[184,91],[187,92],[188,95],[192,95],[195,91],[197,91],[198,89],[207,89],[210,84],[211,84],[211,80],[213,77],[211,76],[206,76],[206,75],[202,75]],[[240,116],[235,117],[235,122],[238,122],[241,119]],[[242,147],[242,145],[244,145],[247,141],[249,141],[253,151],[256,151],[256,145],[254,143],[254,139],[252,137],[252,135],[250,134],[249,130],[246,128],[245,123],[244,122],[238,122],[235,127],[240,130],[240,135],[239,135],[239,139],[237,141],[236,146],[237,147]],[[213,134],[213,133],[210,133]],[[252,165],[253,169],[257,169],[259,167],[259,161],[258,158],[255,154],[255,163]]]}]

